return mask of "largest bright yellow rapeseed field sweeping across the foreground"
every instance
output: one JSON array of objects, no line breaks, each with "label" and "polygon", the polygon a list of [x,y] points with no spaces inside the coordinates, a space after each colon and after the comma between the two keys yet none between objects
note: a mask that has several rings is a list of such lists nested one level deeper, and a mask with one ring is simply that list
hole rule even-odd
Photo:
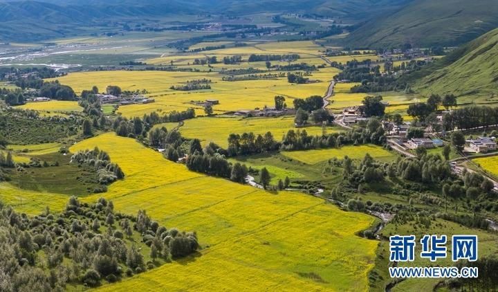
[{"label": "largest bright yellow rapeseed field sweeping across the foreground", "polygon": [[116,210],[134,214],[145,209],[165,226],[196,230],[207,247],[200,257],[166,264],[104,286],[104,291],[131,287],[213,291],[227,286],[367,290],[377,242],[357,237],[355,232],[373,223],[372,217],[342,212],[299,193],[272,194],[196,174],[114,134],[84,140],[71,151],[96,145],[126,174],[103,194],[113,199]]}]

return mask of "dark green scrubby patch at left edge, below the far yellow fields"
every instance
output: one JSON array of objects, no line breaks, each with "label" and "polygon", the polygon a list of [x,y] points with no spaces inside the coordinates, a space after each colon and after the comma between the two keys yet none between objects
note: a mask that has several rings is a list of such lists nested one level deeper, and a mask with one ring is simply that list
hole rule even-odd
[{"label": "dark green scrubby patch at left edge, below the far yellow fields", "polygon": [[39,144],[75,136],[77,116],[42,117],[37,111],[0,108],[0,136],[9,144]]}]

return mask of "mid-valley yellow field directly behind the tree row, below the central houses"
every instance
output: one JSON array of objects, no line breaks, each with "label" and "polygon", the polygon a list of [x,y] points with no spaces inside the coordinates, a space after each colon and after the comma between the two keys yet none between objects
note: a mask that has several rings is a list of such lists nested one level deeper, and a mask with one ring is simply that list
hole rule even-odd
[{"label": "mid-valley yellow field directly behind the tree row, below the central houses", "polygon": [[[156,127],[166,127],[173,129],[178,123],[170,122],[156,125]],[[186,138],[199,138],[204,144],[214,142],[221,147],[228,147],[228,135],[243,134],[252,132],[254,134],[265,134],[270,131],[275,140],[281,140],[288,130],[294,127],[294,117],[284,116],[279,118],[222,118],[203,117],[192,120],[185,120],[184,125],[179,128],[181,134]],[[305,127],[299,130],[306,130],[310,135],[321,135],[322,127]],[[326,127],[326,133],[340,131],[338,127]]]}]

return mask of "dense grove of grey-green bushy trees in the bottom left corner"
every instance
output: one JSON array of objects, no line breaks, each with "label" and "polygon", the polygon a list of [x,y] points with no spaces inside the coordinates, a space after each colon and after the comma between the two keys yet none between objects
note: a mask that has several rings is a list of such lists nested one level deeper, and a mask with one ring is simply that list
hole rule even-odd
[{"label": "dense grove of grey-green bushy trees in the bottom left corner", "polygon": [[167,229],[145,211],[136,217],[113,203],[69,199],[64,212],[30,218],[0,206],[2,291],[56,291],[98,286],[195,253],[194,233]]}]

